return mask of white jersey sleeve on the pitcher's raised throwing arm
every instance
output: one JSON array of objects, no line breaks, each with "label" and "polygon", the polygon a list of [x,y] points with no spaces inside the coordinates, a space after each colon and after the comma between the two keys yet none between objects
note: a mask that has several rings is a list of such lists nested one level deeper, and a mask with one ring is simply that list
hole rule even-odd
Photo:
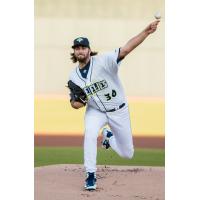
[{"label": "white jersey sleeve on the pitcher's raised throwing arm", "polygon": [[111,72],[114,72],[114,73],[118,72],[118,68],[121,64],[121,60],[119,60],[118,58],[119,53],[120,53],[120,48],[104,54],[106,68]]}]

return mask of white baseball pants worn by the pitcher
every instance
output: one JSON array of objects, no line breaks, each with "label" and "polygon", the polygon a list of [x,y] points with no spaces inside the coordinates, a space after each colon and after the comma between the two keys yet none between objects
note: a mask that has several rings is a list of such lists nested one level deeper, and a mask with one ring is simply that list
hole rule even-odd
[{"label": "white baseball pants worn by the pitcher", "polygon": [[128,106],[114,111],[101,112],[90,106],[85,113],[84,166],[86,172],[96,172],[97,137],[99,130],[109,125],[113,136],[110,146],[117,154],[131,159],[134,154]]}]

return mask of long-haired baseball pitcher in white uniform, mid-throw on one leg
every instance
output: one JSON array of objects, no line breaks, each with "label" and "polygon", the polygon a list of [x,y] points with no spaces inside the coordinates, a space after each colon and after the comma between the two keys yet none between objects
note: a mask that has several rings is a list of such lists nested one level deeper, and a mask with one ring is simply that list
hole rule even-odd
[{"label": "long-haired baseball pitcher in white uniform, mid-throw on one leg", "polygon": [[87,38],[79,37],[73,42],[71,59],[78,65],[72,70],[68,87],[70,103],[74,109],[86,107],[84,131],[85,189],[96,189],[96,156],[99,130],[102,145],[112,148],[119,156],[131,159],[134,154],[132,130],[127,99],[118,71],[122,60],[151,33],[159,20],[149,24],[141,33],[114,51],[97,55],[90,49]]}]

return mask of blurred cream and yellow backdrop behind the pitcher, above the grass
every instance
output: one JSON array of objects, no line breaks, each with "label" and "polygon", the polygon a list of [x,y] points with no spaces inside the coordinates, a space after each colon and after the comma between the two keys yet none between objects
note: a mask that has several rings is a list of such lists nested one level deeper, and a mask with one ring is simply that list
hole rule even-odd
[{"label": "blurred cream and yellow backdrop behind the pitcher, above the grass", "polygon": [[[54,136],[54,144],[63,142],[58,136],[83,135],[85,108],[70,107],[65,87],[76,66],[70,60],[73,40],[85,36],[92,50],[111,51],[154,21],[156,11],[162,15],[158,30],[123,60],[119,76],[129,101],[133,135],[142,138],[138,145],[144,138],[157,138],[163,147],[164,1],[35,0],[35,145],[48,145],[43,136]],[[63,144],[69,142],[73,143]]]}]

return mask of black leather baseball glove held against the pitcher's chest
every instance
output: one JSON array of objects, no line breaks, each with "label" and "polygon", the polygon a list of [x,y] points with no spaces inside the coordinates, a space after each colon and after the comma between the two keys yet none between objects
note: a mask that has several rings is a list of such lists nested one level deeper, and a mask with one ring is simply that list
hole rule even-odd
[{"label": "black leather baseball glove held against the pitcher's chest", "polygon": [[84,105],[87,103],[87,96],[84,91],[76,85],[73,81],[68,81],[68,88],[70,89],[70,102],[71,101],[78,101]]}]

